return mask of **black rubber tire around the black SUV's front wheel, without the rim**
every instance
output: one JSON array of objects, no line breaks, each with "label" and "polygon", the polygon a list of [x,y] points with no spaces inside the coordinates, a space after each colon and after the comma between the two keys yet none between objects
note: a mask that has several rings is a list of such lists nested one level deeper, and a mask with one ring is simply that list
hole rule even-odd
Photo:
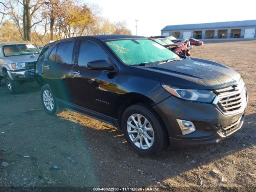
[{"label": "black rubber tire around the black SUV's front wheel, without the rim", "polygon": [[[127,130],[127,122],[132,114],[140,114],[150,122],[154,130],[154,142],[151,147],[147,149],[142,149],[132,142],[132,139],[130,138]],[[162,123],[162,120],[160,119],[158,114],[156,114],[156,112],[152,110],[152,108],[143,103],[129,106],[124,111],[124,114],[122,116],[122,130],[124,133],[124,138],[130,145],[132,150],[145,157],[154,157],[159,155],[162,152],[162,150],[164,150],[168,145],[167,132],[164,127],[164,124]],[[134,137],[135,136],[136,134],[134,135]]]}]

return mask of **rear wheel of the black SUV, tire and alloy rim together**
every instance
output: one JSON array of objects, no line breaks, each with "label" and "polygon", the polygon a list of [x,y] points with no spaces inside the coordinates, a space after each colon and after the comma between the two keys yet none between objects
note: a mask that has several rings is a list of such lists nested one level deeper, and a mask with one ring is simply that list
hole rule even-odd
[{"label": "rear wheel of the black SUV, tire and alloy rim together", "polygon": [[41,102],[46,112],[50,115],[56,115],[63,111],[62,108],[58,107],[54,93],[48,84],[41,88]]}]

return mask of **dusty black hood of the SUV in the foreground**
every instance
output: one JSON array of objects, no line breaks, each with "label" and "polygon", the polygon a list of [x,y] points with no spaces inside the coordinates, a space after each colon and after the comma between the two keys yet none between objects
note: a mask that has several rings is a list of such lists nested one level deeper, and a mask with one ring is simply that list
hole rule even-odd
[{"label": "dusty black hood of the SUV in the foreground", "polygon": [[153,66],[130,66],[131,70],[158,78],[162,84],[186,89],[218,89],[239,81],[240,74],[222,64],[186,57]]}]

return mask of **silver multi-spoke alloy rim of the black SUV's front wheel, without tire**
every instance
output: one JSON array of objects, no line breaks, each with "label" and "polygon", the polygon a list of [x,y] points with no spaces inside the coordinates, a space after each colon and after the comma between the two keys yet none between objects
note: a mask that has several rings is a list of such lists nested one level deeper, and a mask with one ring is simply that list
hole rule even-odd
[{"label": "silver multi-spoke alloy rim of the black SUV's front wheel, without tire", "polygon": [[127,132],[140,149],[149,149],[154,143],[154,130],[150,122],[140,114],[132,114],[127,120]]}]

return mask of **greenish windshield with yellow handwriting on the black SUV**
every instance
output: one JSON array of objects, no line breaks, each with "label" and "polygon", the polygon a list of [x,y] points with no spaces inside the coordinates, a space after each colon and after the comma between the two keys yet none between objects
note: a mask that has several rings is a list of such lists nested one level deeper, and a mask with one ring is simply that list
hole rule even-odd
[{"label": "greenish windshield with yellow handwriting on the black SUV", "polygon": [[106,44],[128,65],[161,62],[180,58],[174,52],[149,39],[108,41]]}]

